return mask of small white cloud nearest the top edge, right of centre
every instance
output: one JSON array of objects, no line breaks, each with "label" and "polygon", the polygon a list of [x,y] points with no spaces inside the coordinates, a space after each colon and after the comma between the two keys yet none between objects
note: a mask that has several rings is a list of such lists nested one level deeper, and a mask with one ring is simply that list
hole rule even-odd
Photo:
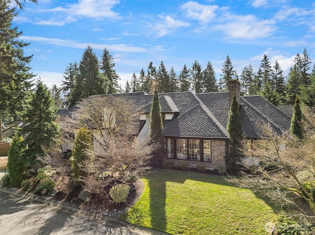
[{"label": "small white cloud nearest the top edge, right of centre", "polygon": [[181,6],[186,11],[186,16],[202,23],[208,23],[216,17],[217,5],[203,5],[196,1],[188,1]]}]

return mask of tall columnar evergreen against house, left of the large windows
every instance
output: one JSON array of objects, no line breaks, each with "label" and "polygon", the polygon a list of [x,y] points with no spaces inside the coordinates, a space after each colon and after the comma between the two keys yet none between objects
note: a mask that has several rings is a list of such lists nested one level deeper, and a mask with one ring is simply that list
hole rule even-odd
[{"label": "tall columnar evergreen against house, left of the large windows", "polygon": [[163,136],[163,123],[161,106],[159,104],[158,90],[154,90],[152,106],[150,111],[149,143],[158,144],[159,148],[153,153],[152,164],[160,167],[165,158],[165,140]]}]

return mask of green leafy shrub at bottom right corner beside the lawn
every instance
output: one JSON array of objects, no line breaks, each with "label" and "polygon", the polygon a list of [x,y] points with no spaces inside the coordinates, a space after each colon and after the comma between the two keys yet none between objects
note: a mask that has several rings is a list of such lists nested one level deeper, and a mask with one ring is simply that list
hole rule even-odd
[{"label": "green leafy shrub at bottom right corner beside the lawn", "polygon": [[277,223],[277,232],[281,235],[304,235],[307,230],[296,221],[283,215],[279,216]]}]

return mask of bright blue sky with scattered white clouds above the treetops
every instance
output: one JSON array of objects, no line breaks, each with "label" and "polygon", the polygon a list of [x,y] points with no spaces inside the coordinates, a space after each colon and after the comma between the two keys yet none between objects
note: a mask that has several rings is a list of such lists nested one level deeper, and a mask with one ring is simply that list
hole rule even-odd
[{"label": "bright blue sky with scattered white clouds above the treetops", "polygon": [[14,19],[33,54],[32,71],[60,86],[70,62],[80,62],[90,45],[98,58],[114,57],[124,88],[133,72],[164,62],[178,72],[198,60],[221,73],[229,54],[238,74],[264,54],[284,76],[296,53],[307,49],[315,62],[313,0],[37,0],[24,2]]}]

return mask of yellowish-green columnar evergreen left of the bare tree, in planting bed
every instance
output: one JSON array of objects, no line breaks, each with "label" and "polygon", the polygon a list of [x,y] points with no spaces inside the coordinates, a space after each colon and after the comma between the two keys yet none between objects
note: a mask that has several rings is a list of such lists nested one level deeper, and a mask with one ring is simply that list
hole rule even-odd
[{"label": "yellowish-green columnar evergreen left of the bare tree, in planting bed", "polygon": [[92,149],[91,135],[85,128],[79,129],[74,140],[72,156],[70,157],[73,179],[80,184],[83,174],[84,162],[88,159],[87,151]]}]

